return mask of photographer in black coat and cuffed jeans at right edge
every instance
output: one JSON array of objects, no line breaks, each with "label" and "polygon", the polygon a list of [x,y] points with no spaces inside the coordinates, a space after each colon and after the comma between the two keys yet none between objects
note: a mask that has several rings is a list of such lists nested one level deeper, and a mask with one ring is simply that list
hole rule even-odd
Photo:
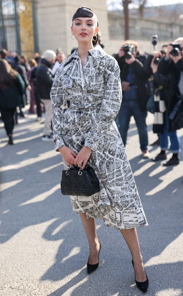
[{"label": "photographer in black coat and cuffed jeans at right edge", "polygon": [[[151,64],[154,80],[156,83],[161,84],[165,90],[166,112],[163,117],[163,133],[160,134],[160,154],[164,153],[165,155],[166,150],[169,149],[169,136],[173,155],[164,165],[179,164],[180,140],[176,130],[183,127],[182,103],[175,112],[175,106],[178,102],[181,102],[180,96],[183,96],[183,38],[176,39],[174,43],[168,45],[166,56],[158,66],[155,66],[154,63]],[[175,113],[174,117],[171,116],[173,111]],[[164,159],[166,159],[166,155]],[[155,157],[155,160],[158,159]]]}]

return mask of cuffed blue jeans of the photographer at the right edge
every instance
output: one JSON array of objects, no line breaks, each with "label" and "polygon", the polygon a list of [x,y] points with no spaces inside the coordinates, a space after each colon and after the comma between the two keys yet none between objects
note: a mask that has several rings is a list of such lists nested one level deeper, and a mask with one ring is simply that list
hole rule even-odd
[{"label": "cuffed blue jeans of the photographer at the right edge", "polygon": [[179,153],[180,152],[180,139],[177,136],[176,131],[168,132],[169,129],[169,120],[167,118],[166,113],[164,114],[164,126],[163,126],[163,133],[160,134],[160,146],[161,150],[168,150],[169,149],[169,139],[171,143],[171,152],[172,153]]}]

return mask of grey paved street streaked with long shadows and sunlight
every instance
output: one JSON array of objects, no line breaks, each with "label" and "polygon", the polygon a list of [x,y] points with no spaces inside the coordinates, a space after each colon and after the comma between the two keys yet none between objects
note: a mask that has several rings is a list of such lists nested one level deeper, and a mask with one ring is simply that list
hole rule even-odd
[{"label": "grey paved street streaked with long shadows and sunlight", "polygon": [[[62,158],[41,141],[35,115],[19,120],[14,145],[0,122],[0,296],[138,296],[131,254],[120,231],[96,220],[99,268],[88,275],[88,241],[80,215],[60,190]],[[153,115],[148,114],[149,143]],[[183,129],[178,131],[183,147]],[[132,120],[126,151],[149,226],[138,229],[148,296],[183,295],[181,163],[142,160]],[[149,146],[151,157],[160,152]],[[168,159],[171,153],[168,153]],[[144,295],[144,294],[143,294]]]}]

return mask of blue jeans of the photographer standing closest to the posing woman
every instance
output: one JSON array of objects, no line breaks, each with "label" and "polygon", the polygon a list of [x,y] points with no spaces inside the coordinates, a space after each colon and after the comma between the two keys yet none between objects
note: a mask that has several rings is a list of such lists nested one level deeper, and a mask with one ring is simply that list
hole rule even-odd
[{"label": "blue jeans of the photographer standing closest to the posing woman", "polygon": [[135,119],[135,123],[139,133],[140,149],[141,151],[145,151],[148,149],[148,131],[145,123],[147,112],[140,111],[139,104],[136,100],[122,100],[119,113],[116,117],[116,125],[125,146],[127,141],[129,122],[132,115]]}]

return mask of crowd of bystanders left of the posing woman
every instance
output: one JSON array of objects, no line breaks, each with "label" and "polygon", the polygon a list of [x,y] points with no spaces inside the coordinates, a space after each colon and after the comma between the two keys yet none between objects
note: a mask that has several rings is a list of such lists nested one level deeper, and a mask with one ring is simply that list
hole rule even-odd
[{"label": "crowd of bystanders left of the posing woman", "polygon": [[28,112],[37,114],[37,121],[42,122],[42,113],[45,112],[42,140],[52,141],[50,91],[56,70],[64,60],[61,48],[56,53],[46,50],[41,56],[35,53],[30,59],[1,49],[0,112],[9,137],[8,144],[13,144],[14,125],[19,116],[26,117],[22,110],[28,104]]}]

